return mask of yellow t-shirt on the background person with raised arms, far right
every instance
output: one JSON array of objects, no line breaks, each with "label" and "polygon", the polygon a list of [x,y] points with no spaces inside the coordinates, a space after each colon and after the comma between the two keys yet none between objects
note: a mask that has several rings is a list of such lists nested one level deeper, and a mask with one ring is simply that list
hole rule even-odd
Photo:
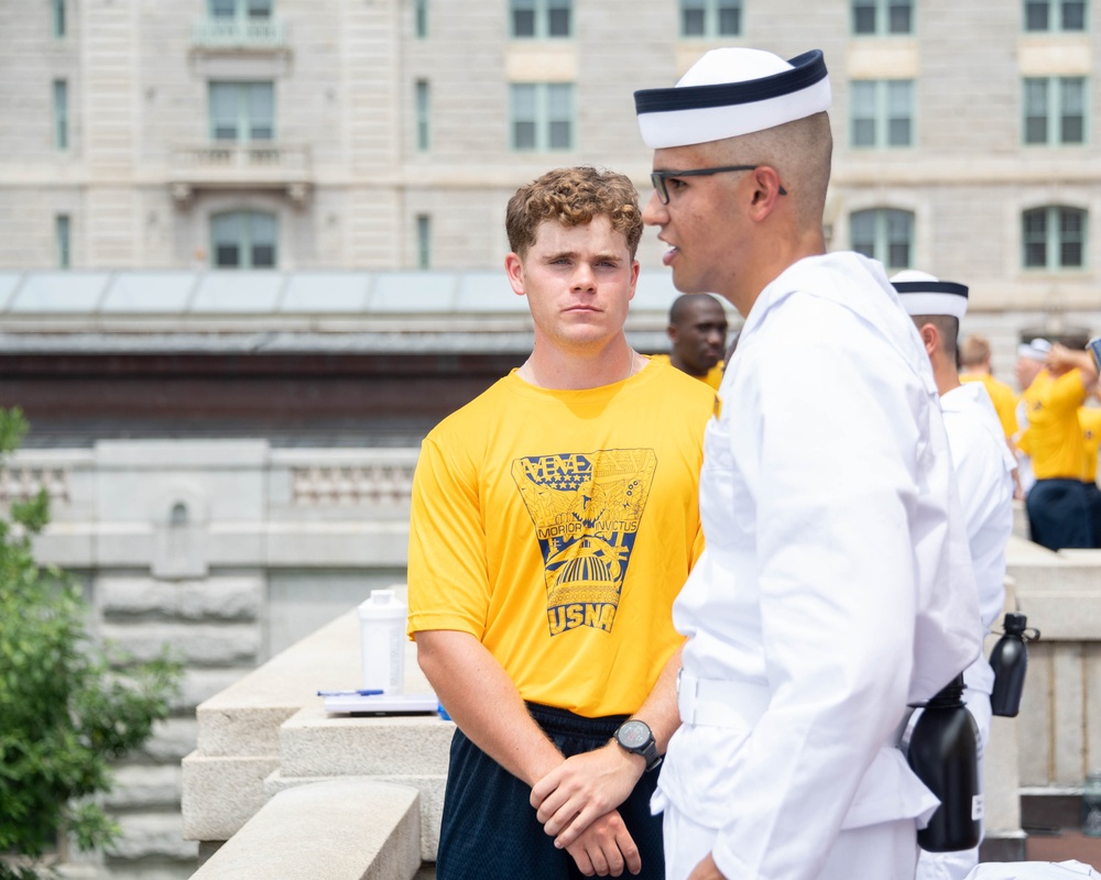
[{"label": "yellow t-shirt on the background person with raised arms, far right", "polygon": [[1081,480],[1086,451],[1078,408],[1086,402],[1086,385],[1079,370],[1056,378],[1046,370],[1022,398],[1028,427],[1020,448],[1032,458],[1037,480]]}]

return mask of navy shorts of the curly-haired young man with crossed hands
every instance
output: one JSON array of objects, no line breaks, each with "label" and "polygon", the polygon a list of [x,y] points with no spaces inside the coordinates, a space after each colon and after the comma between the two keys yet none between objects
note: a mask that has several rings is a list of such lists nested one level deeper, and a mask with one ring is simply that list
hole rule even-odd
[{"label": "navy shorts of the curly-haired young man with crossed hands", "polygon": [[[563,755],[580,755],[611,739],[625,715],[584,718],[560,708],[527,704],[535,722]],[[662,817],[650,814],[657,772],[643,773],[620,815],[634,838],[646,880],[664,880]],[[584,877],[573,857],[555,849],[528,799],[528,785],[504,770],[456,729],[444,794],[436,856],[437,880],[574,880]],[[623,877],[631,877],[626,869]]]}]

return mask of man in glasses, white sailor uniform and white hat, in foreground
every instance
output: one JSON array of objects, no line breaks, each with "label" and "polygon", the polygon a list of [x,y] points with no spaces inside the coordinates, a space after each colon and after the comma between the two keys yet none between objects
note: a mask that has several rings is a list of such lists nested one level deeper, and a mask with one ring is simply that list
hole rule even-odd
[{"label": "man in glasses, white sailor uniform and white hat, in foreground", "polygon": [[674,283],[745,317],[673,610],[682,725],[654,806],[678,880],[911,880],[937,801],[896,728],[979,653],[928,358],[882,266],[825,254],[829,105],[817,51],[717,50],[635,94]]}]

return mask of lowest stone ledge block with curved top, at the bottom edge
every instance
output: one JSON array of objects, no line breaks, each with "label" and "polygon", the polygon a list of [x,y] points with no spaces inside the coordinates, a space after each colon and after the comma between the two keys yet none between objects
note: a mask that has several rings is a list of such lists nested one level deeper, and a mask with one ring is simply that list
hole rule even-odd
[{"label": "lowest stone ledge block with curved top, at the bottom edge", "polygon": [[421,868],[415,789],[315,782],[272,798],[195,880],[410,880]]}]

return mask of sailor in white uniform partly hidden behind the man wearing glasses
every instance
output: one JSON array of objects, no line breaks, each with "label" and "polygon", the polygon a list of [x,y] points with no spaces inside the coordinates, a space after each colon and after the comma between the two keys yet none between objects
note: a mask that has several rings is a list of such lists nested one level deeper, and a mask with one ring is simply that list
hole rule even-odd
[{"label": "sailor in white uniform partly hidden behind the man wearing glasses", "polygon": [[[1005,444],[986,389],[978,382],[961,383],[956,366],[956,340],[960,319],[967,314],[968,288],[913,270],[897,273],[891,283],[922,337],[940,392],[985,637],[1005,605],[1005,546],[1013,531],[1016,460]],[[994,686],[994,671],[984,656],[980,653],[963,671],[963,683],[981,756],[990,741],[990,694]],[[978,847],[958,853],[923,851],[917,877],[963,880],[978,864]]]}]

